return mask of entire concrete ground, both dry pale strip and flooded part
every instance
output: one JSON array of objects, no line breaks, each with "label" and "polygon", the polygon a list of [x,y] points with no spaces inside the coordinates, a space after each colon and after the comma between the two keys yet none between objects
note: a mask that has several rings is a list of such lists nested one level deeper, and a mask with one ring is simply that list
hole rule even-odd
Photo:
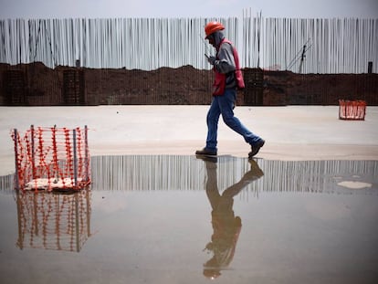
[{"label": "entire concrete ground, both dry pale strip and flooded part", "polygon": [[[266,145],[247,161],[220,121],[217,163],[194,157],[207,109],[0,108],[0,282],[375,283],[378,107],[237,107]],[[30,124],[88,125],[91,190],[16,195]]]}]

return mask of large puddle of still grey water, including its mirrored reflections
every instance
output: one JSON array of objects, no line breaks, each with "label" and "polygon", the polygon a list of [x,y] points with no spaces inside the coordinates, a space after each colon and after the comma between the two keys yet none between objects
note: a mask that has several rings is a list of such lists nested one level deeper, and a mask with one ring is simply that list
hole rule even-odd
[{"label": "large puddle of still grey water, including its mirrored reflections", "polygon": [[0,177],[1,283],[375,283],[378,161],[91,158],[73,195]]}]

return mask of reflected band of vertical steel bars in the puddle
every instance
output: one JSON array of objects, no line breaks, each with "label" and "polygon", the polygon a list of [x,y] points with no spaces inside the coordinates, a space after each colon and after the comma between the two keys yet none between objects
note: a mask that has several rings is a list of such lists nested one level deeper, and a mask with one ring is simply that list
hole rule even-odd
[{"label": "reflected band of vertical steel bars in the puddle", "polygon": [[[376,188],[377,161],[256,160],[264,178],[247,186],[258,192],[348,193],[343,181]],[[91,158],[93,190],[198,190],[205,180],[204,163],[194,156],[96,156]],[[247,159],[220,156],[217,182],[236,184],[249,170]],[[375,180],[374,180],[375,179]],[[366,186],[365,186],[366,187]]]}]

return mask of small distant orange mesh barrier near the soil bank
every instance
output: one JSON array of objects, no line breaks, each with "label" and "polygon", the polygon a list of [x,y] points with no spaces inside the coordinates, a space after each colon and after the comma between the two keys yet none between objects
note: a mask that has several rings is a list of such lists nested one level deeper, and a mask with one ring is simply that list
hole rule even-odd
[{"label": "small distant orange mesh barrier near the soil bank", "polygon": [[339,119],[364,121],[366,102],[364,100],[339,100]]}]

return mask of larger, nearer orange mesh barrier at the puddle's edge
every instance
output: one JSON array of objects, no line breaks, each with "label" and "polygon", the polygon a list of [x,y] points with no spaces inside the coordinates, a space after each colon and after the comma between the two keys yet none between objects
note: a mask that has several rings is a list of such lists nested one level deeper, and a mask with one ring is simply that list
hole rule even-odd
[{"label": "larger, nearer orange mesh barrier at the puddle's edge", "polygon": [[30,127],[15,142],[16,189],[78,190],[90,184],[88,128]]}]

